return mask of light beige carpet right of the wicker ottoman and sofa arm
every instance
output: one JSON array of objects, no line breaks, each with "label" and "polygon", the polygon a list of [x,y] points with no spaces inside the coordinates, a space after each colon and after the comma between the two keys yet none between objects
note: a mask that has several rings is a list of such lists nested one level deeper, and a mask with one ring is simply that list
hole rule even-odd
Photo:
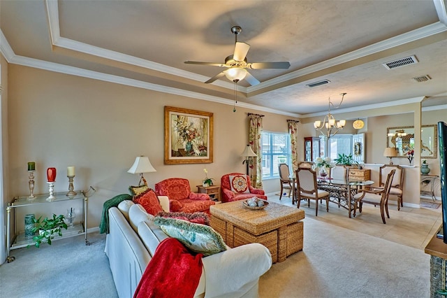
[{"label": "light beige carpet right of the wicker ottoman and sofa arm", "polygon": [[261,276],[261,298],[430,297],[430,256],[305,218],[304,249]]}]

